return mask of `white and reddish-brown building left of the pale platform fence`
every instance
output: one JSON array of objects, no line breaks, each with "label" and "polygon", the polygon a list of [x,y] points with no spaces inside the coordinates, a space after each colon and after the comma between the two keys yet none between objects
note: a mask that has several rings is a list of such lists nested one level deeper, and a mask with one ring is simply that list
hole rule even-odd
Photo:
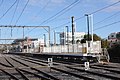
[{"label": "white and reddish-brown building left of the pale platform fence", "polygon": [[38,38],[16,39],[13,44],[15,52],[42,52],[44,47],[44,40]]}]

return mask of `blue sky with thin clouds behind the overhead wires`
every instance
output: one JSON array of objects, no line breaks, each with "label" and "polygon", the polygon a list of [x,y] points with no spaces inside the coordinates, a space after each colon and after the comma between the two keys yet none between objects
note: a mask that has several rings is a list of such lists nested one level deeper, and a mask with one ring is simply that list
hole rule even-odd
[{"label": "blue sky with thin clouds behind the overhead wires", "polygon": [[[8,10],[8,8],[15,1],[16,0],[0,0],[0,16],[3,16],[5,12]],[[19,0],[18,7],[13,17],[17,5],[16,2],[16,4],[3,17],[0,17],[0,25],[50,26],[51,38],[53,38],[54,30],[56,32],[62,32],[65,26],[69,26],[69,31],[71,31],[72,16],[74,16],[75,19],[83,17],[75,21],[76,31],[86,32],[87,25],[86,25],[86,17],[84,16],[85,14],[89,14],[94,11],[97,11],[119,0],[78,0],[79,2],[78,4],[72,5],[72,7],[69,7],[66,11],[63,11],[63,13],[60,13],[57,17],[53,17],[52,20],[48,20],[45,23],[43,22],[77,0],[29,0],[28,5],[26,6],[23,14],[21,15],[19,21],[16,23],[16,20],[21,14],[27,1],[28,0]],[[112,17],[104,20],[109,16]],[[99,35],[100,37],[106,38],[112,32],[120,32],[120,28],[119,28],[120,23],[110,25],[107,27],[105,26],[113,22],[120,21],[120,3],[93,14],[93,17],[94,17],[93,18],[94,33]],[[98,23],[99,21],[101,22]],[[65,24],[67,22],[69,23]],[[99,27],[103,27],[103,26],[105,27],[98,29]],[[43,34],[47,34],[46,30],[44,30],[43,28],[25,29],[25,36],[43,38]],[[1,28],[1,36],[0,36],[1,38],[22,38],[22,35],[23,35],[22,28],[21,29],[13,28],[12,36],[11,36],[11,28]],[[52,41],[53,39],[51,39],[51,42]]]}]

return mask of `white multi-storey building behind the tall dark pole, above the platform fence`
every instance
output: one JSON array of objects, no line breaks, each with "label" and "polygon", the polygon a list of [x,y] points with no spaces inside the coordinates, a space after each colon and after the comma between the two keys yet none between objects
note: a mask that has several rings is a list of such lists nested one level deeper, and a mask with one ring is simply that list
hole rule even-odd
[{"label": "white multi-storey building behind the tall dark pole, above the platform fence", "polygon": [[[75,43],[77,41],[80,41],[81,39],[84,38],[85,32],[75,32],[74,33],[74,40]],[[62,32],[60,33],[60,44],[67,44],[68,43],[72,43],[72,32]]]}]

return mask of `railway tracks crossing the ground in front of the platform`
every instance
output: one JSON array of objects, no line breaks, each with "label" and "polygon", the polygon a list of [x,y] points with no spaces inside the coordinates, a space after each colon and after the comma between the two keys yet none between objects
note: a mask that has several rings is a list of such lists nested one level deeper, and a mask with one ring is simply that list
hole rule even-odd
[{"label": "railway tracks crossing the ground in front of the platform", "polygon": [[4,80],[120,80],[120,67],[113,65],[91,64],[85,70],[83,64],[57,61],[48,67],[47,61],[26,56],[3,55],[0,60]]}]

